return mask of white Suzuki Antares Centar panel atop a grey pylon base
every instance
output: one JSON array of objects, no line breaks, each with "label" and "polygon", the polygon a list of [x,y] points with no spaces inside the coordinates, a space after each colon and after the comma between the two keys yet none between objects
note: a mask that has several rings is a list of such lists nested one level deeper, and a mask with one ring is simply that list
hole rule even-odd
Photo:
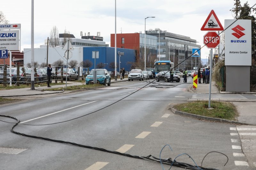
[{"label": "white Suzuki Antares Centar panel atop a grey pylon base", "polygon": [[225,30],[225,65],[252,65],[251,22],[249,19],[225,19],[225,29],[229,26]]}]

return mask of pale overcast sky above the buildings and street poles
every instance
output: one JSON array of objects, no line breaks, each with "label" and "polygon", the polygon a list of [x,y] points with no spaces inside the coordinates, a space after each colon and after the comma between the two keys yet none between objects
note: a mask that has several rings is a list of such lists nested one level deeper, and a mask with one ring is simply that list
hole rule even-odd
[{"label": "pale overcast sky above the buildings and street poles", "polygon": [[[246,0],[240,0],[242,4]],[[201,27],[214,10],[224,27],[224,19],[234,19],[230,11],[234,0],[116,0],[116,33],[144,33],[160,28],[171,33],[189,36],[203,46],[206,31]],[[248,0],[250,6],[255,0]],[[31,0],[1,1],[1,11],[10,24],[21,24],[21,51],[31,48]],[[66,29],[76,38],[80,31],[100,36],[110,46],[110,34],[115,33],[115,0],[35,0],[34,41],[35,48],[44,45],[53,26],[59,33]],[[203,48],[201,57],[206,58],[208,48]]]}]

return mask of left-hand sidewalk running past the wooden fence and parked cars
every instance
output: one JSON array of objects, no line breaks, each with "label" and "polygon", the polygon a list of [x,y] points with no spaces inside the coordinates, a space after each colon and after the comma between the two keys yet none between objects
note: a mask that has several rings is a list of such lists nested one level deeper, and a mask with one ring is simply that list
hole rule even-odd
[{"label": "left-hand sidewalk running past the wooden fence and parked cars", "polygon": [[[111,80],[112,83],[117,83],[121,81],[128,81],[128,78],[124,78],[122,80],[117,79],[117,80]],[[55,82],[53,80],[53,82]],[[65,83],[65,81],[63,81]],[[73,86],[73,85],[82,85],[83,83],[80,82],[74,82],[74,81],[68,81],[67,86]],[[43,94],[53,94],[53,93],[62,93],[63,92],[63,87],[66,87],[65,85],[52,85],[52,87],[47,87],[47,86],[42,86],[42,87],[35,87],[35,90],[30,90],[30,87],[28,88],[20,88],[20,89],[10,89],[10,90],[0,90],[0,97],[11,97],[11,96],[32,96],[32,95],[43,95]],[[52,88],[60,88],[60,91],[47,91],[47,89],[52,89]],[[65,89],[64,89],[65,90]],[[64,91],[64,93],[68,93],[70,91]]]}]

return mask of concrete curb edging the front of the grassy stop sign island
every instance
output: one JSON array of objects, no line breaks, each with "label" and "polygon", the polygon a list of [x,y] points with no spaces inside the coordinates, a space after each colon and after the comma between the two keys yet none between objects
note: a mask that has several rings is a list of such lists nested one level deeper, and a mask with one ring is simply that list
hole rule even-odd
[{"label": "concrete curb edging the front of the grassy stop sign island", "polygon": [[233,124],[239,124],[239,125],[256,125],[256,124],[250,124],[250,123],[242,123],[242,122],[237,122],[237,121],[231,121],[227,119],[220,119],[220,118],[212,118],[212,117],[206,117],[206,116],[201,116],[201,115],[195,115],[191,113],[186,113],[186,112],[181,112],[172,106],[169,108],[174,114],[176,115],[181,115],[181,116],[186,116],[186,117],[192,117],[195,119],[203,119],[207,121],[212,121],[212,122],[223,122],[223,123],[233,123]]}]

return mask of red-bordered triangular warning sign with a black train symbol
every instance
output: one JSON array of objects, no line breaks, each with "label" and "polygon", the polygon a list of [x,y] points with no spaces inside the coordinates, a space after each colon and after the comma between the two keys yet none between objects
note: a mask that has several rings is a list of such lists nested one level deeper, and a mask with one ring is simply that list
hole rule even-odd
[{"label": "red-bordered triangular warning sign with a black train symbol", "polygon": [[206,18],[201,31],[223,31],[224,28],[220,23],[220,20],[216,16],[215,12],[212,10],[208,17]]}]

